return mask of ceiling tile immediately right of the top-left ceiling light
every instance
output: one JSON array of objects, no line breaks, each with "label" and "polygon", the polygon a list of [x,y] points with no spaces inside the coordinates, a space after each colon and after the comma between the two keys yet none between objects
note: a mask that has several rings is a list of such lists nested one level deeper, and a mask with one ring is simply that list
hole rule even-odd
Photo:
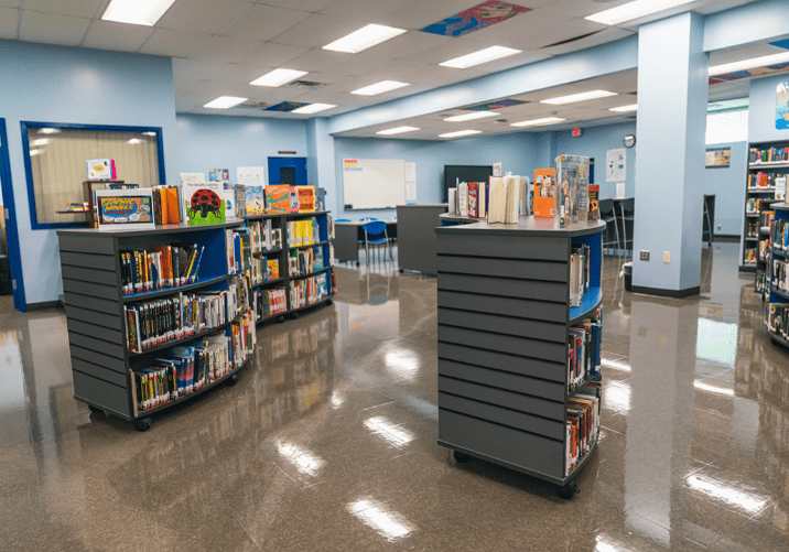
[{"label": "ceiling tile immediately right of the top-left ceiling light", "polygon": [[215,34],[251,7],[241,0],[180,0],[159,20],[158,26]]}]

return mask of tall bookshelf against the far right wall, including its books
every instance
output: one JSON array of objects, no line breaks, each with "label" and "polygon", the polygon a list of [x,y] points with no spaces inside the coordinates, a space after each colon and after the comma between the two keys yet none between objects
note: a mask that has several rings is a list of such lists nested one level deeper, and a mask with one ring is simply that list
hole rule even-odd
[{"label": "tall bookshelf against the far right wall, including its books", "polygon": [[783,201],[789,175],[789,140],[748,144],[748,171],[745,178],[745,225],[743,228],[741,272],[758,272],[761,204]]}]

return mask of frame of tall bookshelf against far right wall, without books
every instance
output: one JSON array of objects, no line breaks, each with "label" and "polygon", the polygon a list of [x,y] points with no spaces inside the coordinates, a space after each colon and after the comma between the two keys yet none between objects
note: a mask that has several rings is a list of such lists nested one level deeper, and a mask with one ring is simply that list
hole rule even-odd
[{"label": "frame of tall bookshelf against far right wall, without books", "polygon": [[[789,160],[774,160],[778,150],[789,148],[789,140],[772,142],[752,142],[748,144],[748,170],[745,178],[745,224],[743,228],[743,241],[741,247],[739,270],[741,272],[757,272],[757,262],[749,262],[749,251],[759,251],[759,240],[765,239],[759,235],[759,210],[750,209],[749,205],[755,201],[775,199],[776,175],[789,174]],[[758,185],[758,175],[766,174],[769,185]]]}]

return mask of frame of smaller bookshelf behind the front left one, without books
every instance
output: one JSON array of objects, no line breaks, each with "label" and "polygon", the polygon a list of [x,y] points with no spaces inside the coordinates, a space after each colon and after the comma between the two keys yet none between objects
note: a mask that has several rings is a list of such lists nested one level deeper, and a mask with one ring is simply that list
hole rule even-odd
[{"label": "frame of smaller bookshelf behind the front left one, without books", "polygon": [[[247,226],[249,226],[250,223],[253,221],[264,221],[264,220],[271,220],[272,228],[279,228],[282,232],[282,247],[269,251],[261,251],[259,253],[252,253],[255,257],[266,257],[267,259],[277,259],[280,264],[280,277],[274,280],[269,280],[256,285],[252,285],[252,289],[273,289],[273,288],[283,288],[285,290],[285,297],[287,297],[287,310],[284,312],[280,312],[277,314],[272,314],[270,316],[258,316],[258,324],[263,324],[269,321],[275,320],[277,322],[284,322],[285,316],[290,316],[292,318],[298,318],[300,316],[300,313],[302,311],[306,311],[309,309],[312,309],[314,306],[318,305],[328,305],[332,304],[332,267],[331,267],[331,245],[332,245],[332,234],[331,234],[331,224],[328,220],[329,217],[328,210],[318,210],[315,213],[283,213],[279,215],[258,215],[258,216],[248,216],[244,217],[244,219],[247,223]],[[302,246],[294,246],[293,243],[293,237],[288,236],[288,223],[294,221],[294,220],[303,220],[306,218],[314,217],[317,220],[318,226],[318,236],[315,239],[315,243],[307,243]],[[323,268],[320,270],[315,270],[313,272],[310,272],[309,274],[302,274],[302,275],[290,275],[290,263],[289,263],[289,256],[294,250],[300,249],[310,249],[310,248],[321,248],[323,252]],[[304,278],[310,278],[318,274],[326,274],[326,281],[327,281],[327,289],[328,289],[328,295],[307,305],[304,306],[294,306],[291,301],[291,283],[298,282],[299,280],[302,280]]]}]

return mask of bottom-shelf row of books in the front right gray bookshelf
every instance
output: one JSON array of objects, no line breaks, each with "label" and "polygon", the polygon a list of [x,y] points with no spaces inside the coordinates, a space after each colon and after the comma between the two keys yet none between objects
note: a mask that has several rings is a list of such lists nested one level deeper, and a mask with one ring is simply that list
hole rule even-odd
[{"label": "bottom-shelf row of books in the front right gray bookshelf", "polygon": [[568,400],[565,476],[592,451],[599,434],[599,382],[588,387],[590,393],[579,393]]}]

